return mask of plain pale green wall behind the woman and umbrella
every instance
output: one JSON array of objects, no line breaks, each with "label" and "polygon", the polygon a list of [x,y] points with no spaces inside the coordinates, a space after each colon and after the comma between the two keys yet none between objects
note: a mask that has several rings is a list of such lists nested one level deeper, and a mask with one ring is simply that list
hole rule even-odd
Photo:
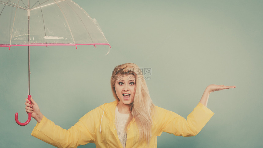
[{"label": "plain pale green wall behind the woman and umbrella", "polygon": [[[163,133],[158,147],[262,147],[263,1],[75,0],[95,17],[107,46],[31,47],[31,95],[41,112],[70,128],[95,107],[114,101],[116,65],[151,68],[146,80],[155,105],[187,117],[209,84],[215,115],[194,137]],[[31,136],[27,119],[27,47],[0,48],[0,147],[53,147]],[[95,147],[87,144],[80,147]]]}]

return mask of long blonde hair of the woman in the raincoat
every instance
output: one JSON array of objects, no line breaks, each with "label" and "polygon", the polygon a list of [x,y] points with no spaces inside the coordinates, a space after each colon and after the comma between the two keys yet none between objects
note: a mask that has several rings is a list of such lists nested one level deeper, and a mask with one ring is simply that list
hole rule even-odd
[{"label": "long blonde hair of the woman in the raincoat", "polygon": [[115,82],[124,75],[133,75],[135,77],[135,94],[130,104],[130,117],[126,123],[125,129],[132,119],[135,119],[139,129],[139,142],[146,141],[150,143],[151,129],[153,125],[154,104],[150,98],[146,81],[144,80],[142,71],[133,63],[125,63],[116,66],[112,71],[110,79],[113,96],[120,101],[115,91]]}]

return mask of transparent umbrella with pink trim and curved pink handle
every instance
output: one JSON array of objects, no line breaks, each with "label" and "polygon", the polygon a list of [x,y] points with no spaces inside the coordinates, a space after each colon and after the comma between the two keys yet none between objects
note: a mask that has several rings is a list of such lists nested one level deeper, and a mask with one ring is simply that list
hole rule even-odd
[{"label": "transparent umbrella with pink trim and curved pink handle", "polygon": [[[97,21],[71,0],[0,0],[0,46],[28,46],[30,101],[30,46],[109,45]],[[110,49],[110,45],[109,45]],[[108,51],[109,53],[109,51]],[[25,123],[30,122],[31,113]]]}]

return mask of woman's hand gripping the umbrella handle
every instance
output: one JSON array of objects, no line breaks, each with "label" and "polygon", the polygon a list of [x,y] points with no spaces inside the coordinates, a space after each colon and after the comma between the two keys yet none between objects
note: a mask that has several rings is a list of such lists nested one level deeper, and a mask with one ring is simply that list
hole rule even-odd
[{"label": "woman's hand gripping the umbrella handle", "polygon": [[40,112],[38,105],[32,99],[32,97],[30,98],[30,100],[31,100],[31,104],[29,104],[28,98],[26,98],[26,102],[25,102],[26,112],[31,113],[31,117],[33,117],[38,123],[40,123],[40,121],[43,118],[43,114]]}]

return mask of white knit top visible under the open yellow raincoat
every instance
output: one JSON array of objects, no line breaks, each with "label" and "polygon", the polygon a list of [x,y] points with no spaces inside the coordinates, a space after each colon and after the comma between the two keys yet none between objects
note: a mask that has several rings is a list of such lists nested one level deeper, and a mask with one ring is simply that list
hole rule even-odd
[{"label": "white knit top visible under the open yellow raincoat", "polygon": [[118,105],[115,109],[115,125],[117,129],[118,138],[120,139],[120,143],[125,148],[126,146],[126,140],[127,140],[127,133],[125,131],[125,125],[129,118],[130,114],[122,114],[119,113]]}]

